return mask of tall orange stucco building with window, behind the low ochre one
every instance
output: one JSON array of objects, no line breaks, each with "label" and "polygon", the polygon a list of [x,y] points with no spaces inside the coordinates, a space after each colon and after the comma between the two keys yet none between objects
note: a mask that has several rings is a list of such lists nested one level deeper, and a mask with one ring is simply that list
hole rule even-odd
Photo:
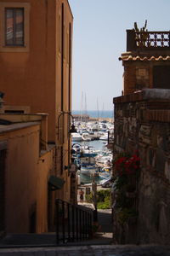
[{"label": "tall orange stucco building with window, behind the low ochre one", "polygon": [[48,113],[56,175],[65,180],[56,197],[65,201],[75,200],[65,170],[71,159],[72,22],[67,0],[0,1],[0,90],[5,93],[5,112]]}]

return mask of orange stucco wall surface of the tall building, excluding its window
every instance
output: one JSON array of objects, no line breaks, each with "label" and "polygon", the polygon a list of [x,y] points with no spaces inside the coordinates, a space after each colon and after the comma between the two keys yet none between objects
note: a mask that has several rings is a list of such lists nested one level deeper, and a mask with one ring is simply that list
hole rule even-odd
[{"label": "orange stucco wall surface of the tall building, excluding its window", "polygon": [[[15,3],[16,0],[1,2]],[[69,49],[72,49],[73,17],[67,0],[20,0],[20,3],[25,2],[30,4],[29,50],[28,52],[0,51],[0,90],[5,93],[6,105],[30,106],[31,113],[48,113],[48,141],[55,142],[58,146],[59,113],[71,110],[72,53],[69,53]],[[61,26],[62,5],[64,26]],[[69,36],[70,32],[71,36]],[[61,104],[61,86],[63,86],[63,104]],[[61,139],[65,154],[63,166],[68,166],[68,156],[66,157],[69,150],[68,116],[65,115],[64,119],[62,130],[65,131],[65,138]],[[59,152],[57,152],[57,160],[59,160]],[[60,175],[60,166],[56,172]],[[67,182],[60,194],[61,198],[69,201],[70,194],[67,191],[70,191],[70,177],[67,172],[63,177]]]}]

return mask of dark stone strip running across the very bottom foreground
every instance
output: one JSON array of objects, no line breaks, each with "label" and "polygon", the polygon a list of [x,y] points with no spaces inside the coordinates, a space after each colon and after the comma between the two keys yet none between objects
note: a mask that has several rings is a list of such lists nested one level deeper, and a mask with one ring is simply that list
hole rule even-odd
[{"label": "dark stone strip running across the very bottom foreground", "polygon": [[0,256],[169,256],[170,247],[77,246],[1,249]]}]

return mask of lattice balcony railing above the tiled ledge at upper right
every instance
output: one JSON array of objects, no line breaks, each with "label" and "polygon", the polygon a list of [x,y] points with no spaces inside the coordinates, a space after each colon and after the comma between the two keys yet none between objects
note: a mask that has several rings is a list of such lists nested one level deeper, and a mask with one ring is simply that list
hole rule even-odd
[{"label": "lattice balcony railing above the tiled ledge at upper right", "polygon": [[136,32],[127,30],[127,51],[135,49],[168,49],[170,32]]}]

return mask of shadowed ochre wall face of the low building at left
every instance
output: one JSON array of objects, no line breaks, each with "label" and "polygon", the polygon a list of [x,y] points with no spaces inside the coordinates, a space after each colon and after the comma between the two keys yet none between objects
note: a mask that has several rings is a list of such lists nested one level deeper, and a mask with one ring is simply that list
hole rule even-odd
[{"label": "shadowed ochre wall face of the low building at left", "polygon": [[[3,132],[8,141],[5,169],[5,229],[7,233],[30,232],[36,211],[35,231],[48,231],[48,175],[53,170],[53,150],[39,160],[40,126]],[[43,162],[42,162],[43,159]]]}]

